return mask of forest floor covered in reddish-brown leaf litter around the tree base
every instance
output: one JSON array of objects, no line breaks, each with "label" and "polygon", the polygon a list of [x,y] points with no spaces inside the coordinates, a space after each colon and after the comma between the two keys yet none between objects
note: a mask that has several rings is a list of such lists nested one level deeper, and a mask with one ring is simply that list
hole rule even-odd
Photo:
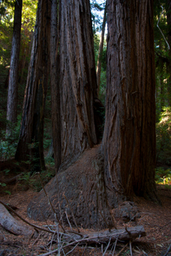
[{"label": "forest floor covered in reddish-brown leaf litter around the tree base", "polygon": [[[30,223],[38,226],[47,226],[46,222],[35,222],[28,218],[27,206],[32,198],[38,194],[33,188],[20,186],[21,184],[12,184],[6,189],[0,186],[0,200],[10,206],[16,207],[16,212]],[[4,193],[4,190],[10,191],[10,194]],[[129,243],[117,242],[113,254],[112,243],[109,250],[104,254],[105,246],[77,246],[68,248],[73,250],[70,255],[170,255],[171,256],[171,187],[157,186],[157,194],[161,199],[161,206],[153,202],[146,201],[144,198],[134,198],[134,202],[140,212],[141,217],[137,222],[124,223],[117,220],[117,229],[125,225],[142,225],[145,228],[146,236],[137,238],[132,242],[132,250]],[[54,224],[48,221],[48,225]],[[34,231],[35,232],[35,231]],[[0,256],[14,255],[42,255],[50,250],[56,249],[57,243],[54,242],[54,234],[40,231],[30,237],[24,235],[10,234],[0,226]],[[50,254],[52,255],[52,254]],[[58,255],[58,253],[53,254]],[[64,255],[64,254],[61,254]]]}]

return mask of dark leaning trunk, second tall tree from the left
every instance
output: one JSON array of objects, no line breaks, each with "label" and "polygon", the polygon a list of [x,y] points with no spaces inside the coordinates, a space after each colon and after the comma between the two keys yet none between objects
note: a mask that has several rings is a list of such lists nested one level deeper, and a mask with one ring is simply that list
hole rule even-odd
[{"label": "dark leaning trunk, second tall tree from the left", "polygon": [[32,171],[45,169],[43,123],[50,66],[50,12],[50,0],[39,0],[23,103],[22,126],[15,155],[18,161],[28,160],[30,155]]}]

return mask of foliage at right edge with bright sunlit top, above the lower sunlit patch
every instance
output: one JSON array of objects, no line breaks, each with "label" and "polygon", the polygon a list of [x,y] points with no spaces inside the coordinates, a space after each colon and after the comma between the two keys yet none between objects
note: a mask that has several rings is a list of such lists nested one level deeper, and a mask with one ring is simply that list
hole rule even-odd
[{"label": "foliage at right edge with bright sunlit top, above the lower sunlit patch", "polygon": [[171,108],[165,107],[156,126],[157,161],[171,164]]}]

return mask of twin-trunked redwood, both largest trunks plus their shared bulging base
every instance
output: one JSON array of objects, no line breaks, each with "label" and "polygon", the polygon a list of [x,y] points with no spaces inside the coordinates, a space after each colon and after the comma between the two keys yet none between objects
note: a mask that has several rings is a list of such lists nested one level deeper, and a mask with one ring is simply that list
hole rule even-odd
[{"label": "twin-trunked redwood, both largest trunks plus their shared bulging base", "polygon": [[[108,0],[107,8],[106,114],[100,148],[93,146],[97,142],[93,122],[96,80],[89,0],[61,1],[64,165],[47,184],[46,192],[57,213],[59,204],[62,214],[69,212],[70,202],[77,223],[83,227],[111,223],[110,210],[133,194],[157,201],[153,3]],[[65,163],[75,160],[66,168]],[[28,206],[31,218],[43,219],[42,212],[46,218],[54,216],[43,191]]]}]

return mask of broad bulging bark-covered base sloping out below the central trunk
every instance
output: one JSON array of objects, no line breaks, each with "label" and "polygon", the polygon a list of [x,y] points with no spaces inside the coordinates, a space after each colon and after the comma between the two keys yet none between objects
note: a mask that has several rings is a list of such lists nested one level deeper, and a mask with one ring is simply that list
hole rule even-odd
[{"label": "broad bulging bark-covered base sloping out below the central trunk", "polygon": [[[58,218],[62,217],[66,223],[69,218],[72,226],[75,224],[74,218],[77,225],[83,228],[113,226],[105,197],[103,162],[99,158],[98,148],[95,146],[85,150],[77,162],[57,174],[45,186]],[[30,202],[27,213],[38,221],[54,219],[54,211],[43,190]]]}]

